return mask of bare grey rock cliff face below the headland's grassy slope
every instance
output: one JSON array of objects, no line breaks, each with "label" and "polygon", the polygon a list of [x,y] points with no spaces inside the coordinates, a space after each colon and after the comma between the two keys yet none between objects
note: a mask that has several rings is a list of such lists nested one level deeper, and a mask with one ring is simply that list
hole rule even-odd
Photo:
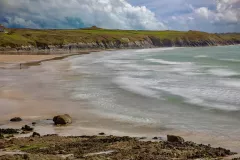
[{"label": "bare grey rock cliff face below the headland's grassy slope", "polygon": [[188,39],[177,39],[176,41],[171,41],[168,39],[160,39],[156,37],[146,37],[141,41],[130,42],[126,39],[126,41],[116,40],[114,42],[108,41],[96,41],[91,43],[69,43],[65,45],[38,45],[37,47],[23,47],[20,49],[64,49],[64,50],[72,50],[72,49],[141,49],[141,48],[156,48],[156,47],[204,47],[204,46],[218,46],[218,45],[236,45],[240,44],[239,40],[229,40],[229,41],[216,41],[216,40],[198,40],[191,41]]}]

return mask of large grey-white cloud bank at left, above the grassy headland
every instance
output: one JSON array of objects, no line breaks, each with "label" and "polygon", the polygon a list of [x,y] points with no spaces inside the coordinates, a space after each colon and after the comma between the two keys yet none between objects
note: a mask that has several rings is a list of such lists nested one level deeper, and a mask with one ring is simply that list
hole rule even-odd
[{"label": "large grey-white cloud bank at left, above the grassy headland", "polygon": [[0,0],[0,6],[0,23],[9,27],[167,28],[145,6],[125,0]]}]

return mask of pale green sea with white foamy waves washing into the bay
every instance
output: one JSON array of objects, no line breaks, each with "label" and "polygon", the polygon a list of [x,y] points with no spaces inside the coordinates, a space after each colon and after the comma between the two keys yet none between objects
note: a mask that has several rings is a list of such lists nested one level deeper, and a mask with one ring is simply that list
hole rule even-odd
[{"label": "pale green sea with white foamy waves washing into the bay", "polygon": [[240,46],[121,50],[69,61],[78,77],[69,84],[72,99],[87,100],[99,114],[239,138]]}]

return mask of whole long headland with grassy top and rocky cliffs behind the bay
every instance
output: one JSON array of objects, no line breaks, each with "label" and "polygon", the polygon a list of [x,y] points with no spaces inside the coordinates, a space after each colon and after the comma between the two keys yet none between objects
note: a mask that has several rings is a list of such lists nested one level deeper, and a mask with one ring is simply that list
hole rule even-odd
[{"label": "whole long headland with grassy top and rocky cliffs behind the bay", "polygon": [[240,34],[198,31],[31,30],[0,34],[0,50],[140,49],[240,44]]}]

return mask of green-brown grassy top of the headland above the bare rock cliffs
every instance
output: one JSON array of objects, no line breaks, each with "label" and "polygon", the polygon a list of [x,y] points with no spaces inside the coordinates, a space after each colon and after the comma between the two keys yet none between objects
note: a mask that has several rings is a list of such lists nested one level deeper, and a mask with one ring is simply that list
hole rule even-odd
[{"label": "green-brown grassy top of the headland above the bare rock cliffs", "polygon": [[[239,44],[240,33],[210,34],[198,31],[135,31],[107,30],[99,28],[75,30],[36,30],[7,29],[8,33],[0,33],[1,48],[18,48],[22,46],[42,47],[69,44],[116,43],[129,44],[151,41],[153,46],[199,46]],[[125,45],[126,46],[126,45]],[[108,48],[108,45],[105,45]],[[109,47],[111,48],[111,47]],[[116,46],[116,48],[118,48]]]}]

